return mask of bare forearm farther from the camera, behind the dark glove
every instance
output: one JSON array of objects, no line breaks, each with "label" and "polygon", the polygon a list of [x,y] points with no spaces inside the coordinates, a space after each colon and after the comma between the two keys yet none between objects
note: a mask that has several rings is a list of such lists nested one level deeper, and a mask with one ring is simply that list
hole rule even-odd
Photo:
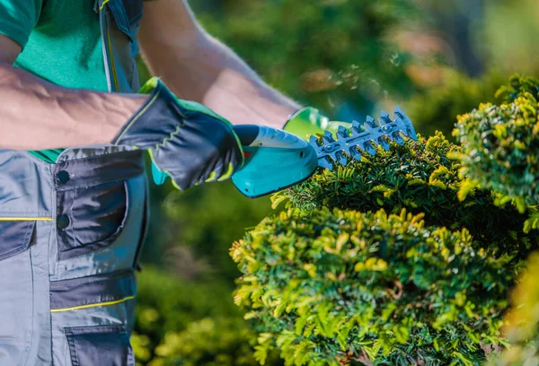
[{"label": "bare forearm farther from the camera, behind the dark glove", "polygon": [[264,83],[231,49],[205,33],[189,47],[146,43],[145,53],[164,56],[146,60],[173,92],[199,101],[234,124],[280,128],[300,108]]}]

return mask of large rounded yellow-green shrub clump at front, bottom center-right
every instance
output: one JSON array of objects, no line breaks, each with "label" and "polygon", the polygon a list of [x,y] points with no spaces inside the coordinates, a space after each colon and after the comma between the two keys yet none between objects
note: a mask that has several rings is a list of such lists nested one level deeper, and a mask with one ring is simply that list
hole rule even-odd
[{"label": "large rounded yellow-green shrub clump at front, bottom center-right", "polygon": [[479,365],[499,345],[512,270],[423,215],[317,210],[267,218],[232,256],[257,357],[287,365]]}]

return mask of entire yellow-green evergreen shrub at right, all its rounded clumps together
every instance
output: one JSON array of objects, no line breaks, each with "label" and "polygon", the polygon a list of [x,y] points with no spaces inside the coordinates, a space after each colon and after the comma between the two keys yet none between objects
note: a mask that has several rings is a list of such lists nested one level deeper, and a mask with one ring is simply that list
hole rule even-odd
[{"label": "entire yellow-green evergreen shrub at right, all its rounded clumps together", "polygon": [[[518,336],[501,326],[538,244],[536,85],[514,78],[499,106],[459,118],[462,145],[441,133],[393,144],[274,196],[287,212],[231,250],[243,273],[235,301],[257,324],[257,359],[278,348],[298,366],[535,360],[531,269],[511,312],[524,302],[528,315],[508,318]],[[508,341],[515,345],[499,358]]]}]

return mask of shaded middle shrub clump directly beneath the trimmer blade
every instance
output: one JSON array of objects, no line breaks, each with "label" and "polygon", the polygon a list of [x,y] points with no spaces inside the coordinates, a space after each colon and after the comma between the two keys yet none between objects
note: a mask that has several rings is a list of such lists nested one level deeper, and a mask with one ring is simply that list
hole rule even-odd
[{"label": "shaded middle shrub clump directly beneath the trimmer blade", "polygon": [[[472,188],[459,177],[461,153],[437,134],[428,140],[407,140],[393,144],[389,151],[379,148],[376,156],[364,154],[361,161],[347,167],[321,170],[312,179],[279,193],[275,202],[287,201],[301,213],[322,207],[359,212],[376,211],[425,213],[428,225],[451,230],[467,228],[475,242],[492,253],[516,254],[527,250],[535,237],[524,238],[526,216],[511,207],[497,207],[490,190],[473,190],[463,201],[463,192]],[[449,157],[448,157],[449,156]]]}]

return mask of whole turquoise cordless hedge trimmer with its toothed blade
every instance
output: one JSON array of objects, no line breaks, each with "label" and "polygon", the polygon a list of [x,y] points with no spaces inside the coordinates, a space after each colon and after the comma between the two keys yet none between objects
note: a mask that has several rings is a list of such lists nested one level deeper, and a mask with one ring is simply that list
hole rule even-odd
[{"label": "whole turquoise cordless hedge trimmer with its toothed blade", "polygon": [[[382,112],[378,121],[367,117],[365,124],[354,121],[350,130],[340,126],[336,136],[326,131],[323,144],[316,136],[310,142],[268,126],[234,126],[243,145],[243,167],[232,176],[244,196],[269,195],[311,177],[318,167],[332,170],[333,163],[346,165],[349,159],[376,154],[376,146],[389,150],[390,143],[417,140],[410,118],[395,108],[393,120]],[[336,138],[335,138],[336,137]]]}]

